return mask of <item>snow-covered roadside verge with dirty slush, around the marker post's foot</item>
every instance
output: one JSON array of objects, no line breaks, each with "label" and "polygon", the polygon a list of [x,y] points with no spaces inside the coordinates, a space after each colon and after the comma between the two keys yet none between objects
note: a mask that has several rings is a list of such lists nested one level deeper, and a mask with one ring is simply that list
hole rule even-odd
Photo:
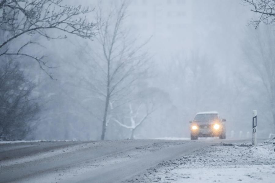
[{"label": "snow-covered roadside verge with dirty slush, around the marker post's foot", "polygon": [[126,182],[274,182],[273,141],[254,147],[245,143],[220,143],[180,159],[163,161]]}]

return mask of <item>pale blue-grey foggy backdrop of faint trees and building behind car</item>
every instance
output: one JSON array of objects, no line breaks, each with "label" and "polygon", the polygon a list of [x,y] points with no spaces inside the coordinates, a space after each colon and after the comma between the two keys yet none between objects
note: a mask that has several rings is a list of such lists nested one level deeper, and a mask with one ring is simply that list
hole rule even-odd
[{"label": "pale blue-grey foggy backdrop of faint trees and building behind car", "polygon": [[[97,1],[66,0],[71,5],[95,7]],[[119,1],[103,0],[103,11]],[[274,34],[273,27],[248,26],[254,13],[239,0],[132,0],[123,26],[138,42],[149,40],[145,49],[151,59],[150,77],[138,90],[156,98],[158,108],[135,132],[136,138],[189,137],[189,121],[197,112],[218,111],[226,119],[227,137],[249,131],[252,110],[258,111],[258,135],[273,132],[273,117],[265,90],[251,67],[255,34]],[[54,34],[54,32],[53,32]],[[58,34],[58,33],[57,33]],[[102,103],[85,90],[83,78],[93,78],[86,61],[93,61],[99,46],[76,36],[63,40],[37,37],[45,49],[52,80],[33,62],[24,64],[25,74],[37,84],[42,111],[29,139],[98,140],[101,135]],[[32,39],[35,39],[33,37]],[[248,48],[248,45],[251,48]],[[257,45],[257,43],[255,43]],[[37,69],[36,69],[37,67]],[[146,94],[147,95],[147,94]],[[148,94],[147,96],[149,96]],[[127,122],[125,122],[127,123]],[[130,138],[129,129],[110,120],[106,139]]]}]

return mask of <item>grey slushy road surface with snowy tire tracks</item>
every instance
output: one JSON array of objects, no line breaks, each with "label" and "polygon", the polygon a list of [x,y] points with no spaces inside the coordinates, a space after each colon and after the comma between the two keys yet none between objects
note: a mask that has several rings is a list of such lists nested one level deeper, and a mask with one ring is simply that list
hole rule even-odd
[{"label": "grey slushy road surface with snowy tire tracks", "polygon": [[0,182],[122,182],[150,167],[229,140],[0,144]]}]

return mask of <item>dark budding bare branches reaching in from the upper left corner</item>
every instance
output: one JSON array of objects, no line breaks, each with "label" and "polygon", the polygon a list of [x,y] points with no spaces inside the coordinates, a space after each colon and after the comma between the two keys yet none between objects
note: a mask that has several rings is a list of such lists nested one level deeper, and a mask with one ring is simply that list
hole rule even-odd
[{"label": "dark budding bare branches reaching in from the upper left corner", "polygon": [[[48,39],[66,38],[66,35],[53,36],[49,30],[56,29],[64,33],[92,39],[95,35],[95,24],[88,22],[83,15],[93,9],[81,6],[63,5],[62,0],[0,0],[0,30],[5,38],[0,40],[0,58],[9,56],[28,57],[36,60],[42,70],[50,68],[44,56],[38,57],[27,51],[31,45],[40,45],[29,40],[16,43],[23,35],[39,34]],[[19,44],[19,46],[18,46]],[[52,77],[50,75],[50,77]]]}]

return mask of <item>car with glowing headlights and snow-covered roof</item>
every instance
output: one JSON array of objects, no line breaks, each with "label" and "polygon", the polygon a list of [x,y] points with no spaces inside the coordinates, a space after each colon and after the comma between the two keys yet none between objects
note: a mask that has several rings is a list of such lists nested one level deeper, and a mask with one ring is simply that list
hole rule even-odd
[{"label": "car with glowing headlights and snow-covered roof", "polygon": [[221,119],[219,113],[199,112],[193,121],[190,121],[191,140],[197,140],[198,137],[219,137],[226,138],[226,119]]}]

